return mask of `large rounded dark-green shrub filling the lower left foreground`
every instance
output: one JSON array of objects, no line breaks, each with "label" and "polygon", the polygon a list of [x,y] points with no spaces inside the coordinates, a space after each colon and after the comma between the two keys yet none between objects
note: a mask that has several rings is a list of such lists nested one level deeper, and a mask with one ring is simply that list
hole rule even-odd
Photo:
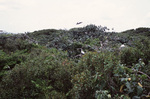
[{"label": "large rounded dark-green shrub filling the lower left foreground", "polygon": [[0,98],[66,97],[72,87],[67,54],[56,49],[32,51],[26,62],[3,77]]}]

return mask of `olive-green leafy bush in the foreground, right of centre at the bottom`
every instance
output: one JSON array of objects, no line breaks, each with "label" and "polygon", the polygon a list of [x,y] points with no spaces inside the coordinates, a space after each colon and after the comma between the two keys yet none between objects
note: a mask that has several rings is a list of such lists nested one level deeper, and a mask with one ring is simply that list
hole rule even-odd
[{"label": "olive-green leafy bush in the foreground, right of centre at the bottom", "polygon": [[74,87],[71,94],[76,98],[85,99],[97,97],[96,92],[99,90],[111,90],[111,87],[115,86],[112,83],[112,71],[117,64],[118,60],[109,52],[84,55],[77,65],[76,74],[72,77]]}]

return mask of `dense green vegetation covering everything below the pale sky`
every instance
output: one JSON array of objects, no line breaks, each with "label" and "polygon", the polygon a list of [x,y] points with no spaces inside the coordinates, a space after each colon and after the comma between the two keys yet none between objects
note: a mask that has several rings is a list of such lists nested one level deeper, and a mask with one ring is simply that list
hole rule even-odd
[{"label": "dense green vegetation covering everything below the pale sky", "polygon": [[150,28],[0,34],[0,99],[150,97]]}]

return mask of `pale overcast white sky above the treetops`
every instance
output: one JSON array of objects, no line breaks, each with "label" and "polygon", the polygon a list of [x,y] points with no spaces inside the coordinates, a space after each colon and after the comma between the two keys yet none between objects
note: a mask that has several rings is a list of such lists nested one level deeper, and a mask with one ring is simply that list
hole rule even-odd
[{"label": "pale overcast white sky above the treetops", "polygon": [[114,28],[116,32],[150,27],[150,0],[0,0],[0,30],[7,32],[89,24]]}]

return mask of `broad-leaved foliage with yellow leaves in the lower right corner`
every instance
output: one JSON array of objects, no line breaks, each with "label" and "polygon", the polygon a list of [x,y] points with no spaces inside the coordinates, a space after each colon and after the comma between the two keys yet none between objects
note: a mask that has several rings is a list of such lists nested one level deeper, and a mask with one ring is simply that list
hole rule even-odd
[{"label": "broad-leaved foliage with yellow leaves in the lower right corner", "polygon": [[[142,67],[145,67],[144,62],[139,60],[139,63],[133,65],[132,68],[128,68],[124,65],[119,65],[114,70],[115,79],[120,86],[120,92],[126,93],[130,97],[139,99],[143,98],[149,90],[148,75],[143,72]],[[144,87],[145,86],[145,87]]]}]

